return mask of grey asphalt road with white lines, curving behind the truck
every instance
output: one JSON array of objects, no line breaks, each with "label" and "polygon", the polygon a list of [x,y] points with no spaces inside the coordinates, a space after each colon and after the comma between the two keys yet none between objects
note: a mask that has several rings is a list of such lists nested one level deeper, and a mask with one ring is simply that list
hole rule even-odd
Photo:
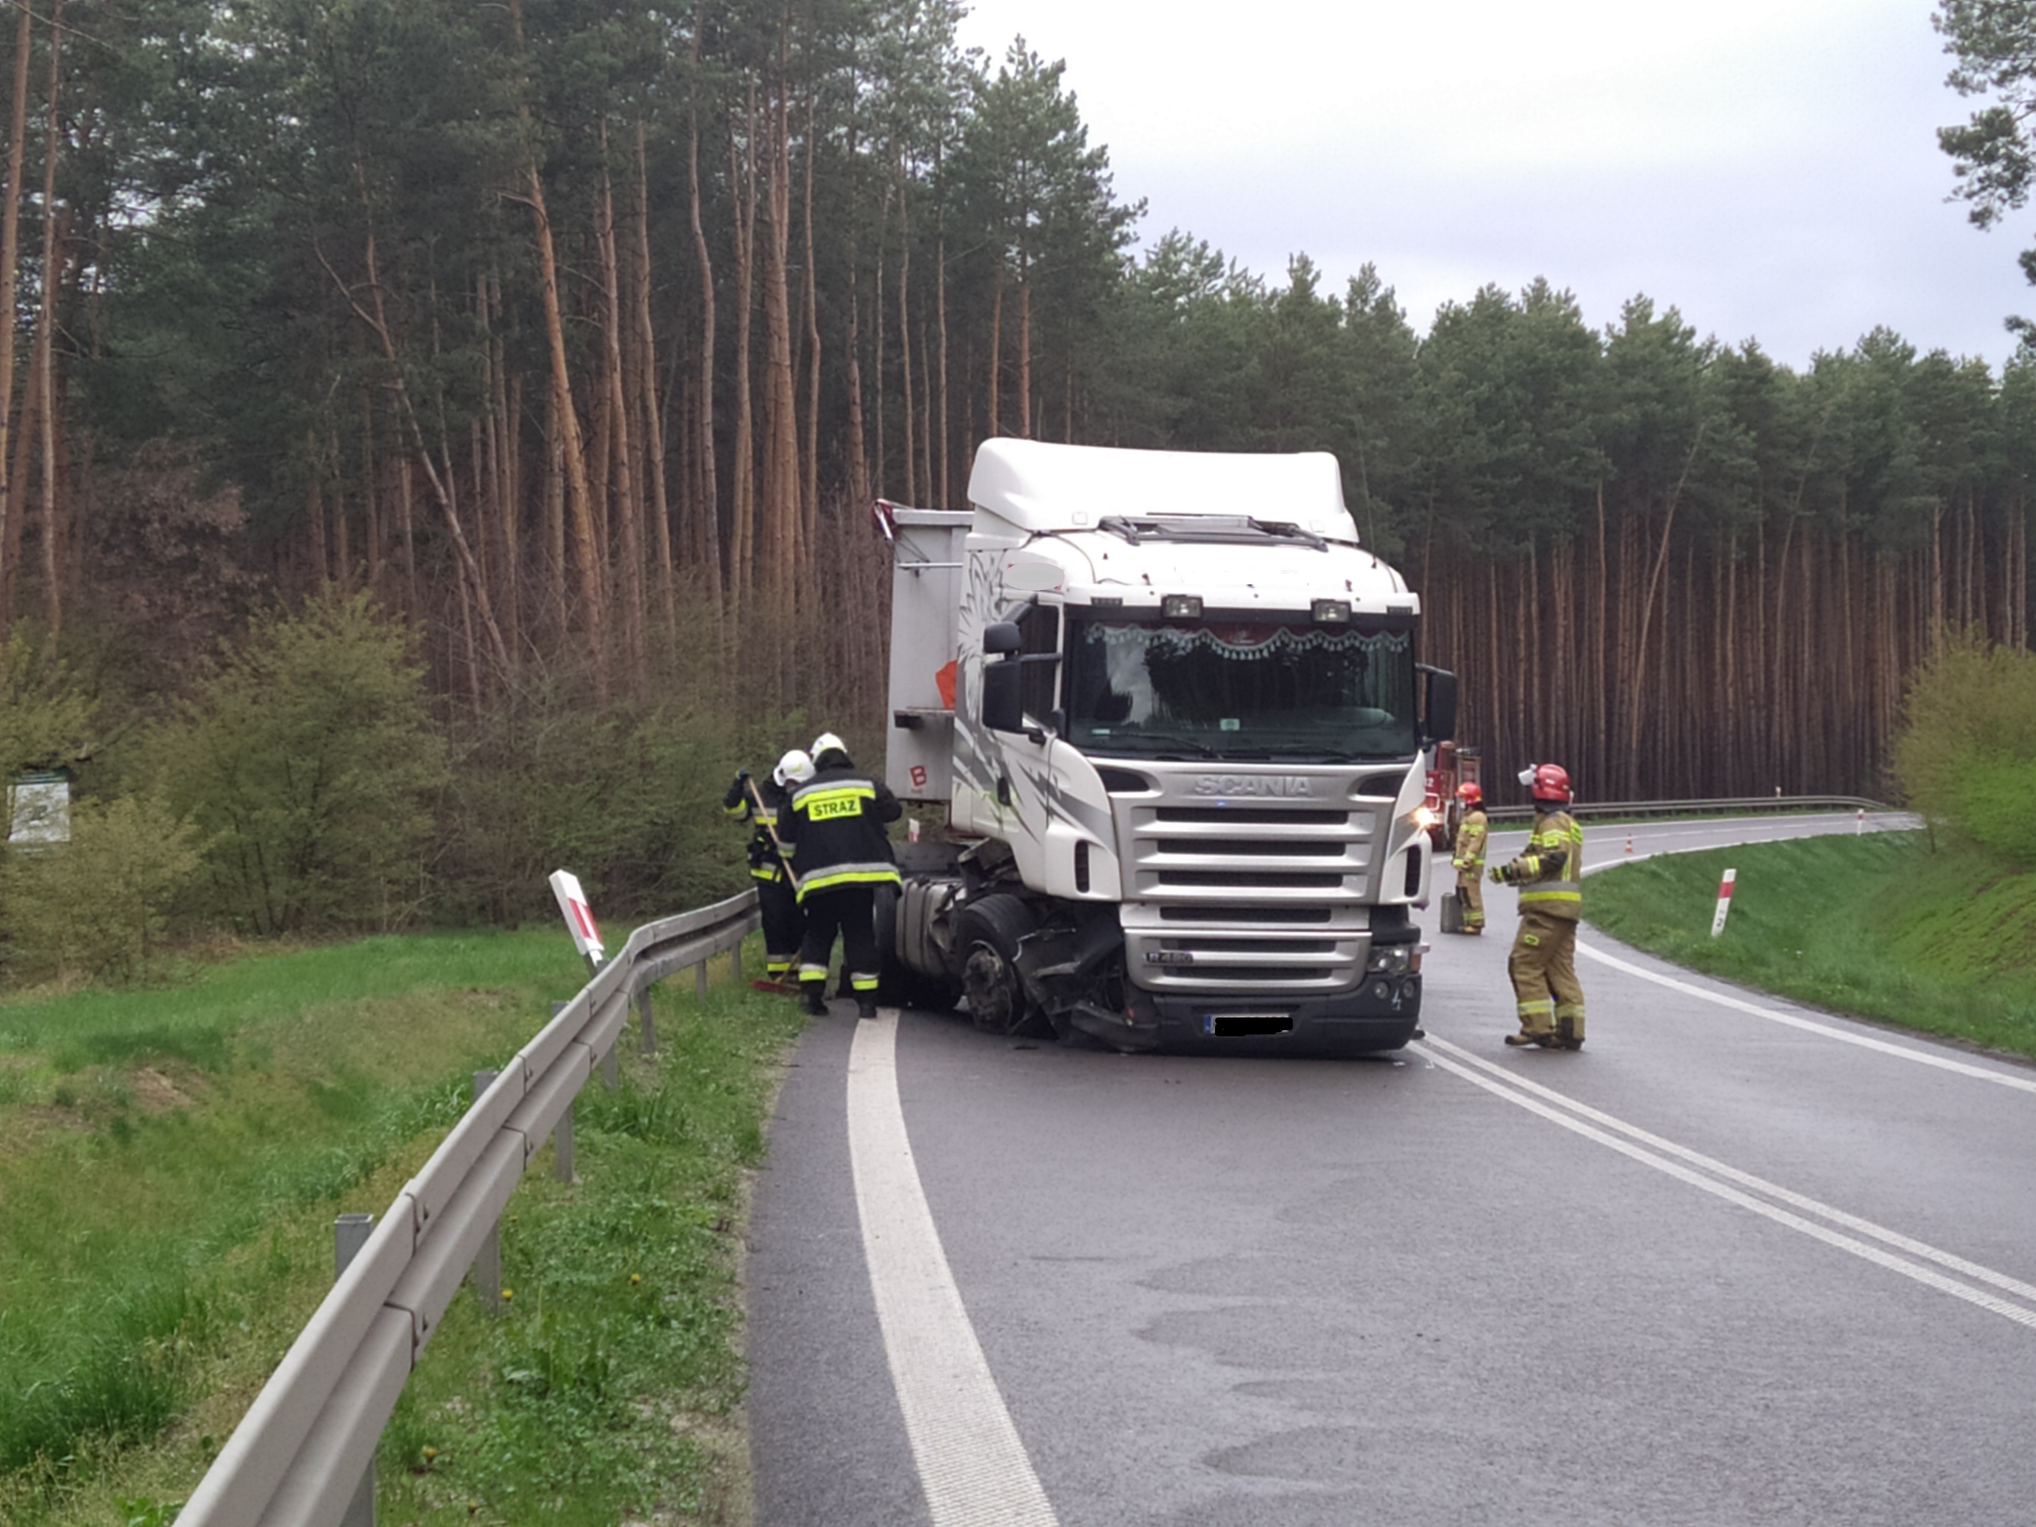
[{"label": "grey asphalt road with white lines, curving behind the truck", "polygon": [[761,1527],[2036,1521],[2036,1069],[1588,928],[1586,1049],[1511,1051],[1486,900],[1389,1059],[835,1004],[751,1213]]}]

